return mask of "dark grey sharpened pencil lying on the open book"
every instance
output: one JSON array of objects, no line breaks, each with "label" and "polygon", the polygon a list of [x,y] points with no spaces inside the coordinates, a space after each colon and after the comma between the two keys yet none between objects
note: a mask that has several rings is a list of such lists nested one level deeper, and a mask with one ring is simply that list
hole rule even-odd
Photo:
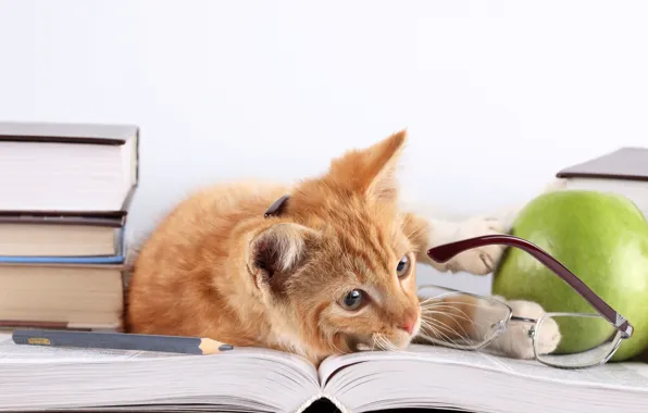
[{"label": "dark grey sharpened pencil lying on the open book", "polygon": [[128,333],[16,329],[13,342],[26,346],[85,349],[162,351],[184,354],[215,354],[233,350],[221,341],[201,337],[157,336]]}]

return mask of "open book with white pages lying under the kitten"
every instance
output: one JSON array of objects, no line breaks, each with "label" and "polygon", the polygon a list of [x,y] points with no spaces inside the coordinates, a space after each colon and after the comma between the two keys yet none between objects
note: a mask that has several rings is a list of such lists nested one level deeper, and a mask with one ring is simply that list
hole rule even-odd
[{"label": "open book with white pages lying under the kitten", "polygon": [[412,346],[325,360],[237,348],[215,355],[17,346],[0,336],[0,411],[646,412],[648,364],[565,371],[484,352]]}]

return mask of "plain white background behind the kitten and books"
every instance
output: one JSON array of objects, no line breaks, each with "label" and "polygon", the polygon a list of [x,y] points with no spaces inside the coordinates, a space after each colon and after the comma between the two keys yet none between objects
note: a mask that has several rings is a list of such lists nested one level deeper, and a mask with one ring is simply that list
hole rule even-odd
[{"label": "plain white background behind the kitten and books", "polygon": [[319,174],[406,127],[404,190],[470,215],[648,145],[647,22],[646,1],[0,0],[0,117],[139,125],[135,235],[197,185]]}]

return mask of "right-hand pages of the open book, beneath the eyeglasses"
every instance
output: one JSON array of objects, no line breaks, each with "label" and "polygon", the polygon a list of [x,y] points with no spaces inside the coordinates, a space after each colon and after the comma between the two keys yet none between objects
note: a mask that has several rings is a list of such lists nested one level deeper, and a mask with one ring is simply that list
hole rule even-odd
[{"label": "right-hand pages of the open book, beneath the eyeglasses", "polygon": [[[638,370],[641,370],[640,367]],[[645,371],[644,371],[645,372]],[[440,408],[498,413],[646,413],[648,375],[634,364],[561,370],[486,352],[412,346],[329,359],[323,393],[348,411]]]}]

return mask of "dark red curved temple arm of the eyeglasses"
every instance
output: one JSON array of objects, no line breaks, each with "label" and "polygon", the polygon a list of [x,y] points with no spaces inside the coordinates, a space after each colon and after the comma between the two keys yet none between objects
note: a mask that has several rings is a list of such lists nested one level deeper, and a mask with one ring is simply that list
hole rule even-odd
[{"label": "dark red curved temple arm of the eyeglasses", "polygon": [[434,261],[443,263],[465,250],[497,243],[520,248],[523,251],[528,252],[533,258],[545,264],[549,270],[556,273],[556,275],[562,278],[562,280],[576,290],[576,292],[589,302],[603,317],[606,317],[606,320],[614,325],[614,327],[623,334],[624,338],[630,338],[632,336],[633,326],[627,320],[608,305],[607,302],[605,302],[558,260],[549,255],[539,247],[522,238],[512,235],[485,235],[431,248],[427,250],[427,255]]}]

